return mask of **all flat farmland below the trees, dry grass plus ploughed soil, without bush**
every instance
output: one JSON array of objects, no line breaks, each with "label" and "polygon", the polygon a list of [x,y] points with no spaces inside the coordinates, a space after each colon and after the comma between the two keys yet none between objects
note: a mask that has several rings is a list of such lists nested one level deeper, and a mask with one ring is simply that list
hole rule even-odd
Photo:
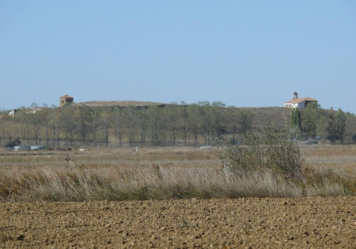
[{"label": "all flat farmland below the trees, dry grass plus ploughed soil, without bush", "polygon": [[356,146],[301,150],[302,184],[196,147],[0,150],[0,248],[355,248]]}]

